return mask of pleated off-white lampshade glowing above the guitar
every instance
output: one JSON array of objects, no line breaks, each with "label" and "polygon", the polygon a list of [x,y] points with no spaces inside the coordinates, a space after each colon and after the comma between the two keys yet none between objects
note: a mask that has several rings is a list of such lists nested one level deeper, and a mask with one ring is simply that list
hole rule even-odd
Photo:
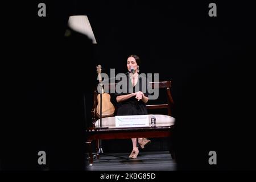
[{"label": "pleated off-white lampshade glowing above the guitar", "polygon": [[88,38],[92,39],[93,44],[97,44],[94,37],[92,27],[87,16],[85,15],[75,15],[69,16],[68,26],[81,34],[87,35]]}]

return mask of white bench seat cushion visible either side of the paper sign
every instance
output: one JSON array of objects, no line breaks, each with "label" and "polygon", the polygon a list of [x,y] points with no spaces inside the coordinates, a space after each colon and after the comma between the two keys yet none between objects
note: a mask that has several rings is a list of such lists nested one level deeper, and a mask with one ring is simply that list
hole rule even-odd
[{"label": "white bench seat cushion visible either side of the paper sign", "polygon": [[[171,117],[170,115],[148,114],[149,124],[150,124],[150,119],[153,115],[156,118],[156,126],[172,126],[175,123],[175,118]],[[115,117],[102,118],[101,123],[102,123],[102,127],[115,128]],[[96,121],[95,127],[100,127],[100,119]]]}]

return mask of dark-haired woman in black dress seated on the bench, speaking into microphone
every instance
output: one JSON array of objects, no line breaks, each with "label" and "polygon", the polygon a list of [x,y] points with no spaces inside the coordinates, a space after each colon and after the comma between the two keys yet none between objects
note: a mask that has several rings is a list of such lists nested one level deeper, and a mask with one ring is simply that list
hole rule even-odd
[{"label": "dark-haired woman in black dress seated on the bench, speaking into microphone", "polygon": [[[127,69],[130,72],[127,76],[127,92],[116,94],[116,100],[118,102],[117,115],[146,115],[146,103],[148,101],[148,94],[143,93],[146,90],[145,82],[139,79],[139,66],[141,65],[141,60],[137,55],[130,55],[127,59]],[[138,83],[138,84],[137,84]],[[129,86],[132,88],[129,89]],[[139,87],[138,87],[139,86]],[[137,88],[137,89],[135,89]],[[144,88],[144,89],[143,89]],[[132,90],[132,92],[129,92]],[[139,90],[135,92],[135,90]],[[131,152],[129,159],[136,159],[139,154],[137,147],[137,138],[132,138],[133,151]],[[146,138],[138,138],[138,143],[141,148],[144,145],[150,143],[151,141]]]}]

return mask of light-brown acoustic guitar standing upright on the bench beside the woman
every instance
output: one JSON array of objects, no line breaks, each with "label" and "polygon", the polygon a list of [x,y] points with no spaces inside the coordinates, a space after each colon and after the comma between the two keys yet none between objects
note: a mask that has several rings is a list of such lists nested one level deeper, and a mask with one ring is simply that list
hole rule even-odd
[{"label": "light-brown acoustic guitar standing upright on the bench beside the woman", "polygon": [[[101,79],[101,65],[97,65],[97,73],[98,73],[98,81],[101,84],[102,79]],[[115,111],[115,107],[112,104],[112,102],[110,102],[110,94],[108,93],[104,93],[104,88],[102,87],[101,90],[102,93],[102,117],[106,117],[108,115],[113,115],[114,111]],[[97,107],[96,107],[96,112],[98,115],[100,115],[100,106],[101,106],[101,94],[98,94],[97,96]]]}]

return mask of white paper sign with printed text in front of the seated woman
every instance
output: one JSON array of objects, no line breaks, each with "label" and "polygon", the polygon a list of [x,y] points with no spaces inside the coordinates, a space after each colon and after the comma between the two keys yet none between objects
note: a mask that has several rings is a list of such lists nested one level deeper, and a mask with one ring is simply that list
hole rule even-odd
[{"label": "white paper sign with printed text in front of the seated woman", "polygon": [[148,115],[117,115],[115,127],[146,127],[149,126]]}]

